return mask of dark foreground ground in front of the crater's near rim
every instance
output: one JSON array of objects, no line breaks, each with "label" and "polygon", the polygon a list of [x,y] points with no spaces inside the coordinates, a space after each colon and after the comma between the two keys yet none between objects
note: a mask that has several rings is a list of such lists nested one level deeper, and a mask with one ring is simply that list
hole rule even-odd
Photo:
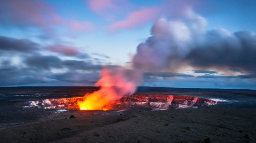
[{"label": "dark foreground ground in front of the crater's near rim", "polygon": [[73,110],[52,119],[0,129],[1,142],[256,142],[256,108]]}]

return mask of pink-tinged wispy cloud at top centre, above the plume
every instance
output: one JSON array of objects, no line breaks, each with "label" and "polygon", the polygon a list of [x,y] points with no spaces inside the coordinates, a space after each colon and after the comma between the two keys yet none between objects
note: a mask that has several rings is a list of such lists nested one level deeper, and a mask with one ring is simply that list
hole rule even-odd
[{"label": "pink-tinged wispy cloud at top centre, above the plume", "polygon": [[160,2],[160,4],[155,4],[151,7],[141,7],[126,0],[105,0],[105,5],[98,2],[98,0],[91,0],[91,2],[95,4],[92,9],[94,9],[93,11],[96,13],[107,15],[107,17],[115,17],[121,13],[117,19],[114,19],[114,22],[111,25],[106,27],[110,32],[118,32],[123,29],[135,29],[153,22],[164,15],[167,15],[168,17],[174,16],[172,15],[173,13],[179,15],[180,11],[183,10],[184,7],[187,7],[187,5],[196,6],[197,3],[204,3],[197,2],[197,0],[193,2],[191,2],[191,0],[182,0],[178,2],[171,0]]}]

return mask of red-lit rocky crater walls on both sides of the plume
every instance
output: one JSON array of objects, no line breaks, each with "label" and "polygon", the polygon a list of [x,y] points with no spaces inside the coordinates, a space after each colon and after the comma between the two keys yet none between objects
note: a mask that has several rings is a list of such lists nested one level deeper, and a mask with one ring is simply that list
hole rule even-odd
[{"label": "red-lit rocky crater walls on both sides of the plume", "polygon": [[[78,101],[82,101],[83,97],[61,98],[61,99],[45,99],[38,101],[29,101],[32,107],[45,109],[80,109]],[[208,99],[200,99],[187,96],[173,95],[131,95],[124,96],[111,103],[111,109],[129,108],[129,107],[144,107],[153,109],[176,109],[187,107],[201,107],[215,105],[216,101]]]}]

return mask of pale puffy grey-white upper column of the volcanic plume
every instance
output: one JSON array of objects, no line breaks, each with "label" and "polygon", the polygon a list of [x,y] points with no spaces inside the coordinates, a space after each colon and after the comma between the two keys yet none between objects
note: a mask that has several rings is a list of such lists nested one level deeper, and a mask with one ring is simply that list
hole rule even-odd
[{"label": "pale puffy grey-white upper column of the volcanic plume", "polygon": [[158,19],[152,29],[152,36],[137,46],[132,61],[135,68],[161,70],[169,67],[176,70],[182,63],[194,41],[205,31],[206,20],[191,9],[184,11],[176,20]]}]

